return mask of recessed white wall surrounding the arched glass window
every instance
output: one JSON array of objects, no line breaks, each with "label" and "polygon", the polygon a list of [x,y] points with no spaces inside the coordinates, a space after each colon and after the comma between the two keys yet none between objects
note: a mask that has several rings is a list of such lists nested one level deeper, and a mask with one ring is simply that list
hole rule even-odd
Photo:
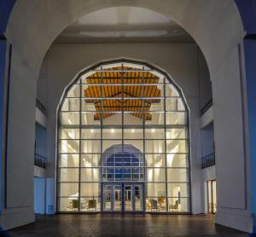
[{"label": "recessed white wall surrounding the arched glass window", "polygon": [[[55,177],[55,125],[56,108],[65,86],[84,67],[96,61],[115,57],[130,57],[149,61],[168,72],[182,88],[190,108],[192,196],[194,213],[203,210],[201,205],[200,170],[200,119],[198,91],[198,51],[195,43],[106,43],[106,44],[55,44],[44,59],[38,90],[47,85],[38,99],[48,109],[48,177]],[[204,69],[205,70],[205,69]],[[47,75],[47,77],[45,77]],[[43,98],[44,97],[44,98]],[[54,197],[53,197],[54,199]]]}]

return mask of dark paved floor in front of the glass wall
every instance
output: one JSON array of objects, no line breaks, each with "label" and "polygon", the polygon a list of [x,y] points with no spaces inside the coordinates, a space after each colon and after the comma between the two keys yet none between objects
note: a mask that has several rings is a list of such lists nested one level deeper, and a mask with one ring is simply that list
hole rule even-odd
[{"label": "dark paved floor in front of the glass wall", "polygon": [[10,236],[247,236],[215,225],[211,215],[38,216],[37,222],[9,231]]}]

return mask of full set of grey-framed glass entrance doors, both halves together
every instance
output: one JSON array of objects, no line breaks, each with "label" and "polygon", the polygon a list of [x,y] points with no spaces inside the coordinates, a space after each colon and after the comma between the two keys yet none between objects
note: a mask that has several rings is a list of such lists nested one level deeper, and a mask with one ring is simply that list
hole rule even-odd
[{"label": "full set of grey-framed glass entrance doors, both halves together", "polygon": [[103,183],[102,211],[144,211],[143,183]]}]

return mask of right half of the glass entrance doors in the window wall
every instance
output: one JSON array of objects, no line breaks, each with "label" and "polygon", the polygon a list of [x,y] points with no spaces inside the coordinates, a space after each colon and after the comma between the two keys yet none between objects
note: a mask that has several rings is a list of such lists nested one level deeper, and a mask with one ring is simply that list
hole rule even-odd
[{"label": "right half of the glass entrance doors in the window wall", "polygon": [[143,184],[124,184],[124,211],[143,211]]}]

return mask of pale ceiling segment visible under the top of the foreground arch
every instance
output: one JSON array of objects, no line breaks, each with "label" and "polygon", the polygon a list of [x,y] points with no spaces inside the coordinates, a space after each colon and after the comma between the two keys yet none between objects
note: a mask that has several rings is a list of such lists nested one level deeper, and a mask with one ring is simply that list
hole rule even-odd
[{"label": "pale ceiling segment visible under the top of the foreground arch", "polygon": [[194,40],[169,17],[137,7],[114,7],[85,14],[55,39],[55,43],[92,42],[190,43]]}]

